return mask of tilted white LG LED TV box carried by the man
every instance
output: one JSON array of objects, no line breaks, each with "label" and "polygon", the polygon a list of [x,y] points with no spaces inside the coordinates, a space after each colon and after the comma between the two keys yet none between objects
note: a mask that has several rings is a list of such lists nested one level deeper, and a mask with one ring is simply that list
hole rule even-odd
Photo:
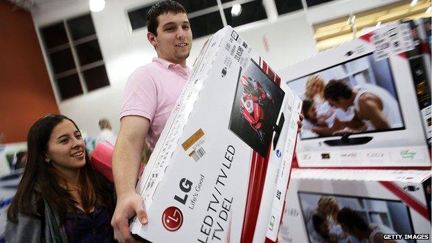
[{"label": "tilted white LG LED TV box carried by the man", "polygon": [[231,26],[202,49],[138,191],[151,242],[276,240],[300,99]]}]

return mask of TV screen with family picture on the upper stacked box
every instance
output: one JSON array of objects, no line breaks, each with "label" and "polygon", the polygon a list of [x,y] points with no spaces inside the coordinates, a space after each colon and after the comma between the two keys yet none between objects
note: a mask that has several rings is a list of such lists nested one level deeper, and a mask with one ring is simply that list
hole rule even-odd
[{"label": "TV screen with family picture on the upper stacked box", "polygon": [[301,139],[405,129],[388,60],[372,53],[287,84],[303,100]]}]

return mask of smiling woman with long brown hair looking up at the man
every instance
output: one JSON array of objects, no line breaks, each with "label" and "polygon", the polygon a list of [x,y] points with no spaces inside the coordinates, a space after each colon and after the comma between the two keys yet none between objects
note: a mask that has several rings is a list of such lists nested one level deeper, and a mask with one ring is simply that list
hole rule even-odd
[{"label": "smiling woman with long brown hair looking up at the man", "polygon": [[27,138],[26,170],[6,224],[7,242],[114,242],[114,197],[91,168],[80,130],[66,116],[44,116]]}]

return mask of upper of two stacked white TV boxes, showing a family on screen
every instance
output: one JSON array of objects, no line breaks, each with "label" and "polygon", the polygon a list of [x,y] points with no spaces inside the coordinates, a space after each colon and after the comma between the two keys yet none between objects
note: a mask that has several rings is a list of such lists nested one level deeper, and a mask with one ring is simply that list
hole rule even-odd
[{"label": "upper of two stacked white TV boxes, showing a family on screen", "polygon": [[[300,167],[431,165],[426,142],[430,141],[430,132],[422,129],[428,126],[428,118],[420,116],[420,110],[429,110],[430,131],[431,109],[430,105],[419,107],[417,102],[414,84],[426,83],[413,80],[412,59],[407,52],[414,49],[408,23],[388,24],[280,71],[282,81],[302,100],[312,100],[311,108],[303,102],[303,109],[315,111],[305,116],[299,136],[296,153]],[[351,103],[339,104],[348,107],[330,105],[329,100],[313,96],[312,86],[307,85],[321,82],[327,87],[330,80],[352,91],[354,96],[346,98]],[[370,109],[359,113],[360,105],[356,104],[364,97],[363,92],[379,97],[379,116],[384,116],[381,120],[385,122],[375,120],[374,124],[372,114],[366,115]],[[430,104],[430,94],[426,96]],[[353,121],[356,126],[345,126]]]}]

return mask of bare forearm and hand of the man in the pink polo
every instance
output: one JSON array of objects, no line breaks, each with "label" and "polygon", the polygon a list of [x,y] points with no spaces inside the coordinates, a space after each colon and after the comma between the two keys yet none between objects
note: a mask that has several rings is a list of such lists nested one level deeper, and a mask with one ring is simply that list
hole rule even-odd
[{"label": "bare forearm and hand of the man in the pink polo", "polygon": [[118,242],[133,242],[129,219],[138,215],[141,224],[147,224],[143,199],[135,192],[141,152],[150,127],[150,120],[141,116],[125,116],[120,120],[120,132],[113,154],[113,175],[117,204],[111,225]]}]

